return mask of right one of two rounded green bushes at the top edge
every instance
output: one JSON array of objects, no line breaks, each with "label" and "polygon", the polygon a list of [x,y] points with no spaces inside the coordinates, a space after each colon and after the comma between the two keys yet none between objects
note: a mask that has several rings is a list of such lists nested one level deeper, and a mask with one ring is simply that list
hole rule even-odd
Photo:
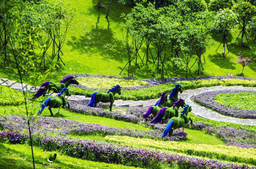
[{"label": "right one of two rounded green bushes at the top edge", "polygon": [[229,8],[231,9],[231,7],[234,5],[234,1],[233,0],[212,0],[209,3],[209,8],[212,11],[218,11],[219,9],[225,9],[225,8]]}]

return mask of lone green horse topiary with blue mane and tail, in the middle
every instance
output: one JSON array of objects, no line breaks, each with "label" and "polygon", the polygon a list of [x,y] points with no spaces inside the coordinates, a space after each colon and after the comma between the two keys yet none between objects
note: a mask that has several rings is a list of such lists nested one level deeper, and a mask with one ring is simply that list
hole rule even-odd
[{"label": "lone green horse topiary with blue mane and tail, in the middle", "polygon": [[99,103],[100,101],[104,103],[110,102],[109,109],[110,111],[112,111],[112,106],[115,101],[115,94],[118,93],[119,95],[121,95],[121,88],[122,87],[120,87],[120,85],[116,84],[111,89],[108,89],[107,93],[102,93],[102,92],[92,93],[91,100],[87,104],[87,106],[96,107],[97,103]]}]

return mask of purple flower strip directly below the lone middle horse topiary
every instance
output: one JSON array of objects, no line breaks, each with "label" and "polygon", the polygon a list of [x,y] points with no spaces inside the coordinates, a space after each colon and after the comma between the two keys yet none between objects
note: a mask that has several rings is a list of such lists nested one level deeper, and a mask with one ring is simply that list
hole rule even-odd
[{"label": "purple flower strip directly below the lone middle horse topiary", "polygon": [[89,103],[89,100],[69,101],[69,103],[70,103],[70,110],[75,111],[77,113],[81,113],[83,115],[95,115],[95,116],[113,118],[116,120],[122,120],[124,122],[132,122],[132,123],[139,123],[141,121],[140,118],[138,118],[135,115],[107,111],[101,108],[102,106],[109,106],[109,104],[106,104],[106,103],[102,104],[100,102],[100,104],[97,105],[97,108],[86,106]]}]

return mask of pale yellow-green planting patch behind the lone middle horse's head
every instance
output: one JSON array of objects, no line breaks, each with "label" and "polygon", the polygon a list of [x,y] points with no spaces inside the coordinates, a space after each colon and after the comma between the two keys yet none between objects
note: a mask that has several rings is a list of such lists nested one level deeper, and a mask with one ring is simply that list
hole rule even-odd
[{"label": "pale yellow-green planting patch behind the lone middle horse's head", "polygon": [[91,89],[111,89],[114,85],[119,84],[121,87],[127,88],[131,86],[140,86],[148,84],[142,80],[125,80],[118,78],[100,78],[100,77],[78,77],[79,84]]}]

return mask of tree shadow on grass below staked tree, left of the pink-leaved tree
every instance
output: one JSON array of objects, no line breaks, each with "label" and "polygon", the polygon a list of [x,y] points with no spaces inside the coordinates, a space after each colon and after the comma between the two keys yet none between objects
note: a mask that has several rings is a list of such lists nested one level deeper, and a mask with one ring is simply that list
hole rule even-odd
[{"label": "tree shadow on grass below staked tree, left of the pink-leaved tree", "polygon": [[235,63],[231,62],[229,58],[223,58],[221,54],[210,54],[208,55],[208,58],[211,62],[215,63],[220,68],[235,69]]}]

